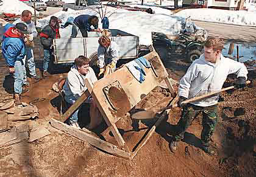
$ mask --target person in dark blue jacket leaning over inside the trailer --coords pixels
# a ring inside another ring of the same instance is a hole
[[[101,29],[98,28],[99,19],[94,15],[79,15],[73,23],[71,38],[76,38],[79,30],[84,38],[87,38],[87,32],[101,32]],[[91,29],[91,26],[94,29]]]

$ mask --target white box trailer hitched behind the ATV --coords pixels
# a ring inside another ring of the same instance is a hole
[[[119,48],[119,59],[132,59],[139,56],[139,37],[118,29],[110,29],[111,40]],[[90,63],[98,59],[98,40],[100,33],[88,32],[87,38],[59,38],[54,39],[54,63],[73,63],[79,55],[89,58]],[[145,53],[144,53],[145,54]]]

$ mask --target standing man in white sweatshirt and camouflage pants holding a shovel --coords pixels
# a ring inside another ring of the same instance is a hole
[[[191,64],[180,80],[178,106],[182,108],[182,116],[177,124],[177,133],[169,144],[172,152],[177,149],[177,143],[183,139],[194,117],[202,113],[202,150],[209,154],[215,153],[210,148],[210,137],[219,120],[217,111],[219,95],[187,105],[181,103],[193,97],[220,91],[229,74],[237,76],[235,88],[243,88],[246,85],[248,73],[246,67],[243,63],[223,57],[221,54],[223,47],[224,41],[220,38],[208,39],[205,42],[204,54]]]

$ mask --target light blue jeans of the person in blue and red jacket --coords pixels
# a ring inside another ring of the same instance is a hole
[[[15,61],[14,69],[14,92],[15,94],[21,94],[22,85],[24,82],[24,64],[21,61]]]

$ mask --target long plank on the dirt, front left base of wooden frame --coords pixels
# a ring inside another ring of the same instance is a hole
[[[107,151],[108,153],[111,153],[115,156],[130,159],[130,153],[120,150],[116,145],[102,141],[98,137],[94,137],[91,134],[85,133],[84,131],[77,130],[76,128],[70,127],[58,120],[51,119],[50,122],[52,127],[57,128],[58,130],[61,130],[67,134],[70,134],[71,136],[77,137],[81,141],[86,141],[94,147],[100,148],[101,150]]]

